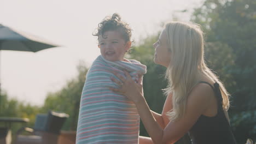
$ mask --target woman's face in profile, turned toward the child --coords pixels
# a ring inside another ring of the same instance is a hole
[[[168,49],[165,30],[161,32],[158,41],[156,41],[153,46],[155,47],[154,62],[163,65],[164,67],[168,67],[171,60],[171,52]]]

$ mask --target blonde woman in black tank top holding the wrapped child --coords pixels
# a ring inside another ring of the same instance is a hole
[[[118,74],[111,78],[121,88],[110,88],[131,99],[150,138],[140,142],[174,143],[189,132],[193,144],[236,143],[228,117],[229,94],[203,59],[199,26],[183,22],[165,25],[154,44],[156,64],[167,68],[169,85],[162,115],[150,111],[142,85]],[[142,81],[142,79],[140,79]],[[135,90],[134,90],[135,89]]]

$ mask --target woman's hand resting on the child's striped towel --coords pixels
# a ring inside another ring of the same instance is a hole
[[[113,92],[125,95],[128,99],[132,100],[135,104],[143,98],[142,75],[139,75],[138,83],[136,83],[127,71],[124,71],[126,79],[118,73],[114,73],[121,81],[110,77],[110,79],[117,83],[120,88],[109,88]]]

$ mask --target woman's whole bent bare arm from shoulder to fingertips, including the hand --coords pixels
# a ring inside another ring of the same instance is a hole
[[[131,76],[126,72],[127,79],[119,77],[123,82],[120,89],[110,88],[112,91],[119,92],[131,99],[137,107],[144,127],[154,143],[174,143],[179,140],[194,125],[197,119],[206,110],[210,103],[210,97],[214,97],[212,89],[207,85],[197,85],[189,94],[185,114],[178,121],[171,121],[163,129],[154,118],[149,106],[142,94],[142,85],[132,81]],[[116,80],[113,80],[118,83]]]

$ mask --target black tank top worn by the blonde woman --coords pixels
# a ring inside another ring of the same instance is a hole
[[[225,117],[222,107],[222,93],[220,93],[219,84],[214,83],[214,87],[205,81],[199,83],[206,83],[211,86],[214,95],[218,101],[218,112],[214,117],[207,117],[201,115],[193,127],[189,130],[189,136],[192,144],[221,144],[221,143],[236,143],[235,137],[232,134],[228,120]]]

